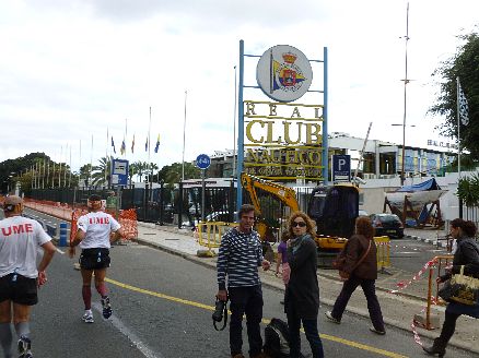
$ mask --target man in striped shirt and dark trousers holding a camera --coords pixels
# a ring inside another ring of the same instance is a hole
[[[242,321],[246,314],[249,357],[262,357],[262,338],[259,324],[262,319],[262,291],[258,266],[269,270],[269,261],[262,258],[261,241],[253,230],[255,207],[245,204],[238,212],[240,226],[227,231],[221,239],[218,254],[217,297],[230,298],[230,349],[233,358],[244,358],[242,353]],[[227,276],[227,291],[226,291]]]

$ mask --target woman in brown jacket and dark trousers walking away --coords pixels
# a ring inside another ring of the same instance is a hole
[[[371,247],[370,247],[371,242]],[[362,256],[367,254],[360,262]],[[379,301],[376,296],[376,278],[377,278],[377,262],[376,262],[376,243],[374,242],[374,227],[367,216],[360,216],[355,219],[355,235],[353,235],[344,247],[346,264],[343,271],[350,277],[344,281],[341,293],[336,299],[332,311],[327,311],[325,314],[329,321],[341,323],[342,313],[344,312],[348,301],[352,293],[361,285],[364,296],[367,301],[367,310],[373,326],[371,332],[379,335],[386,334],[384,327],[383,313],[381,311]]]

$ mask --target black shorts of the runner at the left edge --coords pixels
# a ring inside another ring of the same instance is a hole
[[[24,306],[36,305],[38,302],[37,279],[19,274],[0,277],[0,302],[5,300]]]

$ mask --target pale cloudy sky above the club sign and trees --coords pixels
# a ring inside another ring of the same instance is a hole
[[[402,142],[406,0],[4,0],[0,2],[0,162],[32,152],[93,164],[117,153],[160,167],[233,147],[238,41],[329,53],[329,131]],[[431,73],[479,23],[479,2],[410,0],[407,145],[427,146]],[[246,84],[256,85],[246,59]],[[314,73],[323,69],[313,64]],[[316,75],[318,79],[319,75]],[[314,81],[312,88],[320,90]],[[245,99],[266,100],[258,90]],[[318,94],[299,102],[322,104]],[[151,127],[150,127],[150,111]],[[157,154],[144,151],[161,135]],[[131,142],[135,134],[135,153]],[[93,151],[92,151],[93,136]],[[446,140],[447,141],[447,140]]]

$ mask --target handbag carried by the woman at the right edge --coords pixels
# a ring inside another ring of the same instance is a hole
[[[437,295],[446,302],[459,302],[467,306],[479,303],[479,278],[466,276],[464,265],[460,273],[444,283]]]

